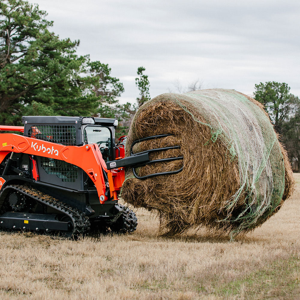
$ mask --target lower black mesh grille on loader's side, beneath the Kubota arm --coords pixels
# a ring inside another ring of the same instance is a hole
[[[41,167],[47,174],[54,174],[63,182],[75,182],[78,178],[78,167],[65,161],[41,157]]]

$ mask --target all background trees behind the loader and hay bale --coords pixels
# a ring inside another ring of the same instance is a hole
[[[20,125],[22,115],[101,116],[118,118],[116,136],[126,134],[137,109],[150,99],[145,68],[137,68],[136,103],[119,104],[124,87],[109,65],[78,56],[79,41],[51,32],[46,15],[25,0],[0,2],[0,124]],[[195,81],[188,91],[200,88]],[[298,171],[300,102],[289,91],[286,83],[260,82],[254,98],[265,105]]]

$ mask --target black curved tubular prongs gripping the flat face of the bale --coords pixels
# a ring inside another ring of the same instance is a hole
[[[143,151],[143,152],[133,153],[133,147],[137,143],[140,143],[140,142],[143,142],[143,141],[147,141],[147,140],[153,140],[153,139],[161,138],[161,137],[169,137],[171,135],[173,135],[173,134],[159,134],[159,135],[153,135],[151,137],[144,137],[142,139],[134,141],[131,144],[131,147],[130,147],[130,155],[131,155],[131,157],[143,155],[144,153],[148,153],[148,155],[149,155],[149,153],[152,153],[152,152],[164,151],[164,150],[169,150],[169,149],[180,149],[181,148],[180,146],[170,146],[170,147],[163,147],[163,148],[157,148],[157,149],[146,150],[146,151]],[[145,176],[138,176],[137,173],[136,173],[136,171],[135,171],[135,168],[143,167],[143,166],[146,166],[147,164],[154,164],[154,163],[160,163],[160,162],[166,162],[166,161],[177,161],[177,160],[180,160],[180,159],[183,159],[183,156],[171,157],[171,158],[163,158],[163,159],[156,159],[154,161],[147,161],[147,162],[144,162],[142,164],[138,164],[138,165],[133,166],[132,167],[132,172],[133,172],[133,175],[137,179],[148,179],[148,178],[155,177],[155,176],[160,176],[160,175],[177,174],[177,173],[179,173],[179,172],[181,172],[183,170],[184,164],[182,164],[182,167],[180,169],[175,170],[175,171],[153,173],[153,174],[149,174],[149,175],[145,175]]]

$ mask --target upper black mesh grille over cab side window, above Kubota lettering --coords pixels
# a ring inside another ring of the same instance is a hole
[[[66,146],[77,145],[76,128],[72,125],[32,125],[28,136]]]

